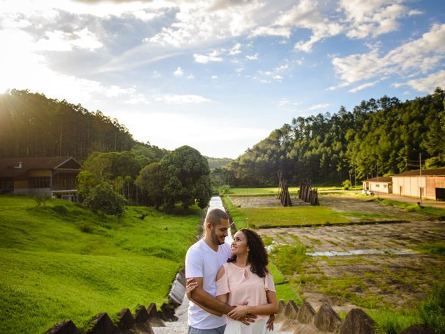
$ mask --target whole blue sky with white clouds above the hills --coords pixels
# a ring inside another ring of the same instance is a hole
[[[293,118],[445,88],[443,0],[0,0],[0,93],[236,158]]]

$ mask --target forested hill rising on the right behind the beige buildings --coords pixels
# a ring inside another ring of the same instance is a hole
[[[362,180],[445,166],[444,90],[401,102],[363,101],[352,111],[293,118],[225,169],[234,185],[277,184],[277,171],[298,184]],[[426,165],[426,166],[425,166]]]

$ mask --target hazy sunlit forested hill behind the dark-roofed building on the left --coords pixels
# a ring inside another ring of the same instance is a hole
[[[80,104],[28,90],[0,95],[0,157],[72,156],[130,150],[136,141],[118,120]]]

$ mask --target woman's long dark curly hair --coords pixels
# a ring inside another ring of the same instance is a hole
[[[268,257],[263,239],[261,239],[257,232],[248,228],[241,228],[238,232],[243,232],[248,239],[248,264],[250,264],[252,273],[256,273],[259,277],[266,277],[266,273],[268,273],[266,267],[268,264]],[[236,255],[232,255],[227,262],[234,262],[235,260]]]

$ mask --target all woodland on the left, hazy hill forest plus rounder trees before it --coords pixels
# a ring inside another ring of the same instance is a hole
[[[171,211],[211,198],[209,163],[194,148],[172,152],[139,143],[118,120],[80,104],[29,90],[0,95],[0,157],[79,159],[79,198],[90,209],[120,215],[124,205]]]

